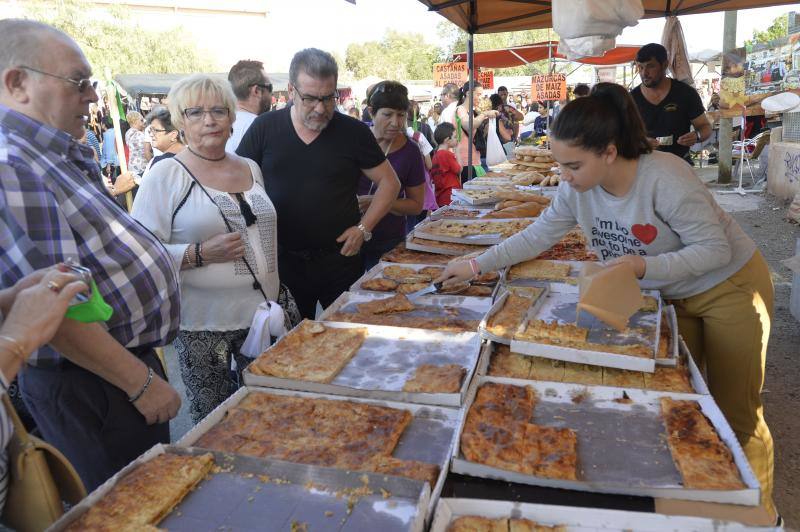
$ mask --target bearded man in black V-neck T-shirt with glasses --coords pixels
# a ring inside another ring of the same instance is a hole
[[[400,191],[397,175],[362,122],[336,112],[336,61],[309,48],[289,67],[293,105],[263,114],[236,153],[254,160],[278,214],[278,269],[304,317],[361,275],[361,245]],[[361,174],[376,185],[359,215]]]

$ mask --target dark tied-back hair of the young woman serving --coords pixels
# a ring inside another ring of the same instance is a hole
[[[596,153],[603,153],[609,144],[614,144],[625,159],[638,159],[653,151],[636,102],[616,83],[598,83],[589,96],[564,106],[551,134]]]

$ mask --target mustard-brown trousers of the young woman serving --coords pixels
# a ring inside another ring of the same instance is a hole
[[[774,296],[769,266],[756,250],[741,270],[717,286],[670,301],[680,334],[697,366],[705,368],[711,395],[761,484],[762,504],[773,513],[772,435],[764,421],[761,387]]]

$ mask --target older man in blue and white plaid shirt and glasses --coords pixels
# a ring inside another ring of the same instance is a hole
[[[177,272],[105,191],[92,149],[78,141],[98,100],[91,74],[61,31],[0,21],[0,289],[73,259],[113,309],[102,324],[64,320],[20,373],[39,429],[90,490],[168,442],[180,407],[154,351],[178,332]]]

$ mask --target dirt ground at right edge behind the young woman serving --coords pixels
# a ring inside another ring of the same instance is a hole
[[[713,187],[716,188],[716,187]],[[738,197],[738,196],[737,196]],[[751,196],[752,197],[752,196]],[[767,351],[764,409],[775,441],[774,499],[786,526],[800,529],[800,323],[789,312],[792,272],[781,261],[794,255],[800,227],[784,219],[786,204],[756,195],[755,209],[727,210],[755,240],[769,263],[775,285],[775,311]],[[727,196],[725,201],[731,201]]]

